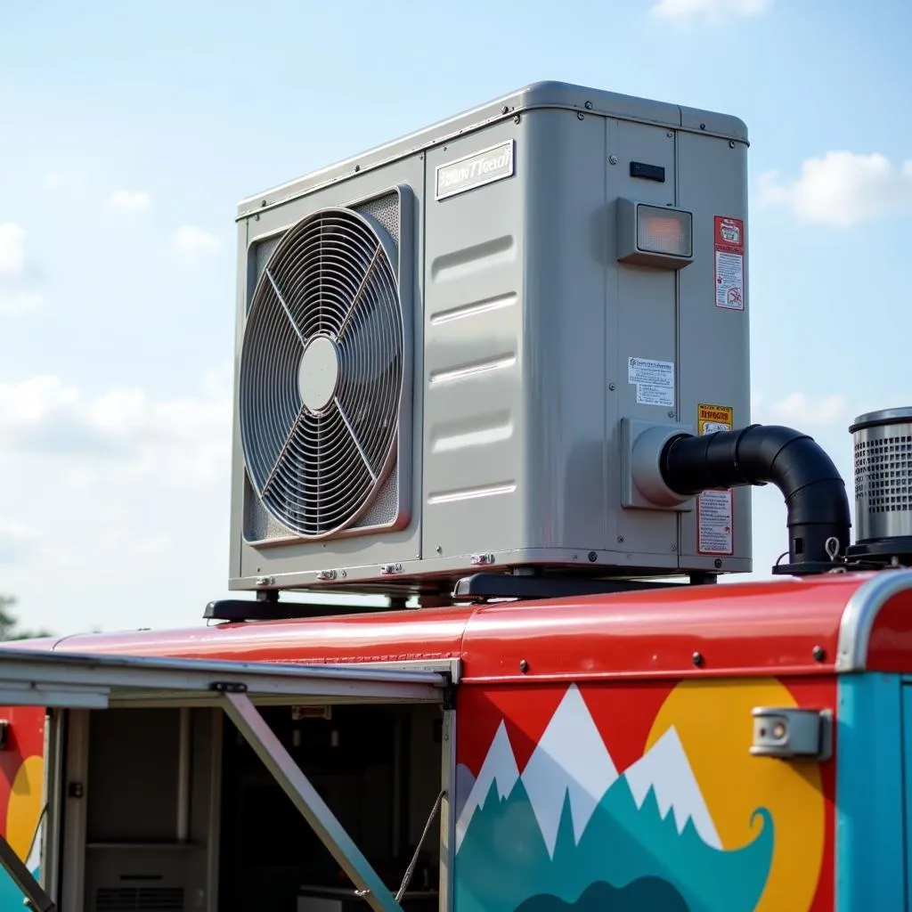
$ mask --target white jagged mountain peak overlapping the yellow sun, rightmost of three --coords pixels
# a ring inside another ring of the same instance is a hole
[[[688,820],[707,845],[722,847],[710,809],[700,793],[700,785],[690,768],[690,762],[678,731],[672,725],[643,756],[624,772],[637,808],[643,806],[649,787],[658,802],[658,812],[664,819],[673,811],[678,832]]]

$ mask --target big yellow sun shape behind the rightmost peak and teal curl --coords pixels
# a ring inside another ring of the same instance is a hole
[[[796,706],[778,681],[683,681],[668,695],[649,731],[648,750],[674,726],[687,751],[722,847],[756,836],[751,814],[772,814],[772,867],[755,912],[794,912],[814,901],[824,857],[824,793],[816,763],[752,757],[751,710]]]

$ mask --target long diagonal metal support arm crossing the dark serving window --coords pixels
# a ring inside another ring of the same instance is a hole
[[[224,693],[224,709],[265,767],[305,818],[320,842],[333,855],[368,905],[377,912],[402,912],[399,903],[352,842],[345,828],[329,810],[301,772],[285,745],[243,693]],[[26,872],[27,873],[27,872]]]

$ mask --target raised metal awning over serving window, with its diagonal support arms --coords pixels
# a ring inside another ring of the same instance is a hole
[[[105,710],[222,706],[368,905],[399,910],[387,886],[316,793],[258,703],[443,703],[451,674],[437,670],[78,655],[0,648],[0,705]],[[33,908],[54,903],[3,841],[0,864]]]

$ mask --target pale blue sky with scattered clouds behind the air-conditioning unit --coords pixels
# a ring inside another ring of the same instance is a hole
[[[60,632],[225,594],[236,203],[543,78],[744,119],[754,420],[851,489],[912,399],[905,0],[35,0],[0,20],[0,592]],[[754,493],[755,565],[785,546]]]

